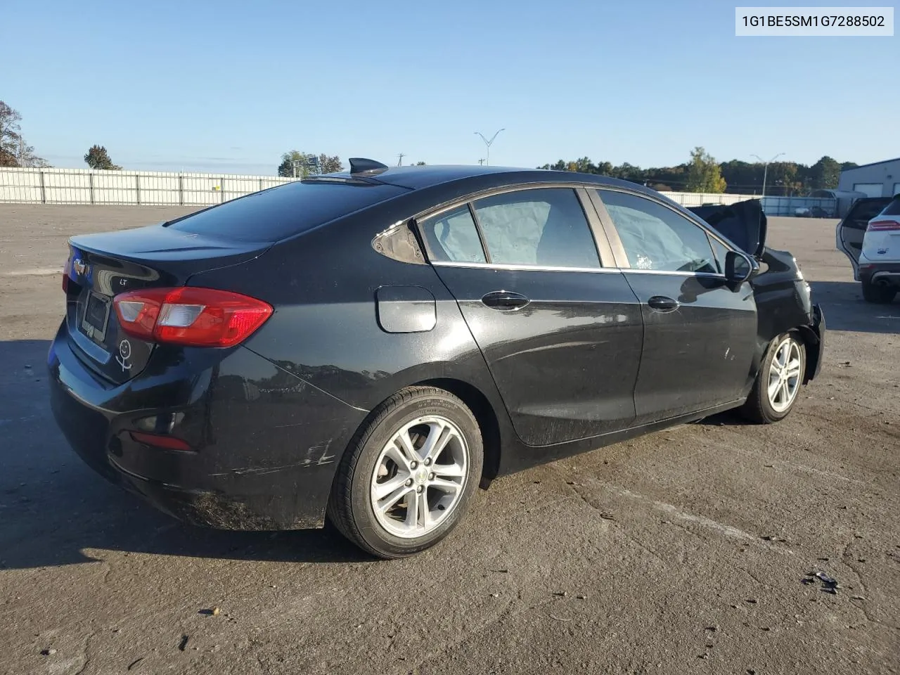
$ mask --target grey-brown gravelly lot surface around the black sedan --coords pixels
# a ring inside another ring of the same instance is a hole
[[[900,306],[862,302],[833,220],[770,221],[830,331],[787,420],[509,476],[444,544],[377,563],[329,530],[183,526],[55,427],[67,236],[183,212],[0,205],[0,672],[900,670]]]

